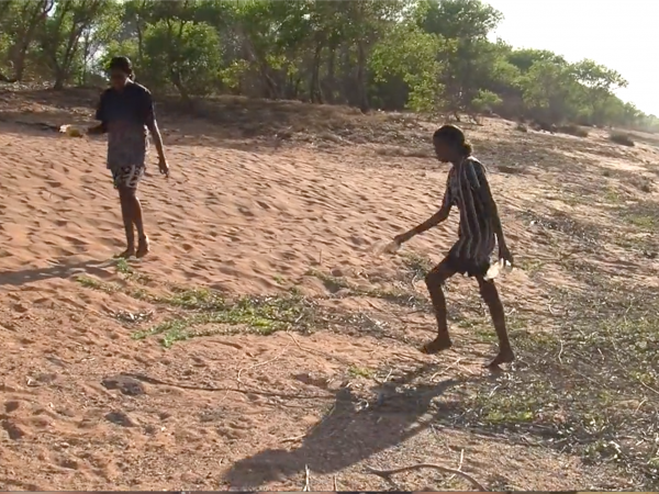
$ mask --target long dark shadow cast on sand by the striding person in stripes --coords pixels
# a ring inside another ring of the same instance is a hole
[[[414,374],[428,367],[422,367]],[[378,397],[361,411],[359,407],[366,402],[355,396],[349,388],[344,388],[337,392],[330,415],[304,437],[298,449],[268,449],[239,460],[224,480],[232,489],[248,490],[303,472],[305,465],[315,473],[337,472],[429,427],[426,414],[436,414],[432,407],[433,398],[460,382],[463,381],[447,379],[404,391],[378,386],[375,390],[379,392]],[[422,417],[424,419],[420,420]]]

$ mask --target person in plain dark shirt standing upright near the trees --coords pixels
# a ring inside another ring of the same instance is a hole
[[[131,60],[126,57],[112,58],[111,87],[102,93],[96,113],[96,119],[101,123],[88,130],[88,134],[108,134],[108,169],[112,172],[114,187],[119,190],[126,231],[126,250],[120,254],[120,257],[144,257],[149,251],[148,237],[144,233],[142,220],[142,204],[136,195],[137,186],[146,168],[148,132],[158,151],[160,173],[169,176],[152,94],[133,79]],[[134,228],[137,229],[136,248]]]

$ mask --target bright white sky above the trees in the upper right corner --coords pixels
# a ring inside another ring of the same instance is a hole
[[[652,0],[485,0],[505,19],[492,37],[550,49],[568,61],[591,58],[629,82],[616,91],[659,115],[659,2]]]

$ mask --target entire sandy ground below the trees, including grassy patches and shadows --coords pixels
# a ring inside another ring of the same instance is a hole
[[[657,489],[659,159],[469,128],[517,269],[501,292],[518,360],[472,283],[448,284],[455,349],[423,276],[455,217],[395,257],[373,247],[437,207],[433,124],[222,100],[161,105],[174,167],[148,177],[154,252],[121,226],[94,91],[0,93],[0,489]],[[178,115],[176,120],[174,115]],[[43,125],[45,124],[45,125]]]

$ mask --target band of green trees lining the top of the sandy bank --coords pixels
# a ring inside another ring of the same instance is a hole
[[[481,0],[3,0],[4,80],[98,83],[126,55],[154,91],[362,110],[476,114],[659,131],[594,60],[490,41]]]

